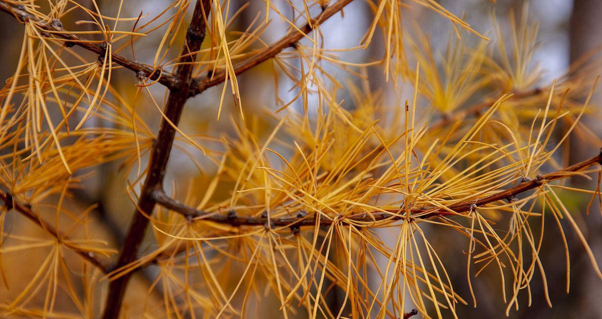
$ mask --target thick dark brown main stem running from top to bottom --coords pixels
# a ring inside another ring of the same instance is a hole
[[[178,59],[178,67],[174,73],[177,85],[170,88],[165,115],[173,124],[177,125],[184,108],[184,103],[190,96],[191,74],[193,71],[196,53],[205,39],[206,17],[209,13],[211,2],[209,0],[197,0],[194,6],[194,13],[188,31],[186,33],[184,47],[181,57]],[[163,119],[155,145],[151,151],[148,173],[144,185],[140,192],[138,209],[145,213],[151,213],[155,207],[155,199],[151,196],[156,189],[163,186],[163,178],[169,160],[169,154],[172,150],[175,129],[169,124],[169,121]],[[132,222],[129,225],[128,235],[123,242],[121,254],[117,261],[116,268],[131,263],[136,258],[138,246],[144,238],[144,233],[149,224],[144,214],[140,211],[134,211]],[[107,303],[103,314],[104,319],[117,318],[123,302],[123,295],[132,273],[128,273],[109,284]]]

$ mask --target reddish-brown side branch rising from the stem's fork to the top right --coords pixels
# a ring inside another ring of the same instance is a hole
[[[273,58],[287,47],[293,46],[306,34],[309,34],[309,32],[313,31],[314,28],[324,23],[330,17],[334,16],[335,13],[343,10],[343,8],[352,1],[353,0],[339,0],[335,2],[335,4],[324,8],[320,14],[311,19],[311,24],[307,22],[305,25],[300,27],[300,31],[297,29],[289,31],[287,35],[280,38],[280,40],[276,41],[275,43],[270,44],[270,46],[261,50],[261,52],[258,52],[250,58],[234,65],[234,73],[236,75],[243,73],[244,71],[249,70],[256,65]],[[213,76],[194,77],[194,87],[191,89],[190,94],[191,96],[196,96],[208,88],[222,84],[224,81],[226,81],[226,71],[220,71],[219,73],[213,74]]]

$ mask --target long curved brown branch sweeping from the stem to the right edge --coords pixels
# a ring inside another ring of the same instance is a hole
[[[576,163],[575,165],[571,165],[566,168],[560,169],[559,171],[551,172],[545,175],[538,175],[538,177],[535,178],[535,180],[525,180],[517,186],[511,187],[507,190],[503,190],[502,192],[485,196],[481,199],[471,199],[470,201],[459,202],[458,204],[450,205],[449,207],[447,207],[448,209],[414,208],[411,210],[410,213],[411,216],[414,216],[417,219],[429,219],[437,216],[458,215],[460,213],[470,211],[473,208],[504,199],[512,201],[513,198],[519,195],[520,193],[540,187],[549,181],[569,177],[575,172],[582,171],[583,169],[589,168],[596,164],[602,165],[602,149],[600,150],[600,154],[592,157],[591,159],[584,160],[583,162]],[[296,217],[271,217],[270,219],[268,219],[267,216],[238,216],[234,210],[228,211],[228,214],[221,214],[198,210],[194,207],[189,207],[187,205],[182,204],[179,201],[176,201],[173,198],[170,198],[166,195],[166,193],[163,190],[160,189],[154,190],[152,196],[158,204],[162,205],[163,207],[169,210],[175,211],[176,213],[182,214],[189,220],[210,220],[212,222],[227,223],[233,226],[268,226],[268,222],[270,223],[269,226],[299,227],[316,225],[315,216],[309,216],[303,213],[298,213]],[[389,210],[386,213],[378,211],[372,213],[355,214],[352,216],[343,216],[340,218],[343,218],[343,220],[349,220],[349,222],[364,223],[384,219],[396,220],[405,218],[405,216],[399,216],[396,213],[397,210]],[[334,220],[331,219],[320,219],[319,223],[321,226],[327,226],[332,224],[333,222]]]

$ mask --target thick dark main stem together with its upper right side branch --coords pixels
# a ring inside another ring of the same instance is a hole
[[[326,8],[314,21],[314,25],[324,22],[330,16],[343,9],[343,7],[349,4],[351,1],[352,0],[340,0],[331,7]],[[205,15],[209,13],[210,4],[211,2],[209,0],[202,0],[202,2],[197,0],[194,8],[193,18],[186,34],[185,44],[180,55],[181,57],[178,59],[178,67],[174,73],[174,83],[177,85],[175,85],[175,87],[170,87],[170,93],[167,98],[167,104],[164,111],[166,117],[174,125],[178,125],[179,118],[182,114],[182,109],[184,108],[184,103],[188,98],[201,93],[208,87],[223,82],[225,79],[224,75],[221,82],[212,82],[208,85],[204,85],[203,81],[197,81],[196,79],[192,78],[194,61],[200,49],[200,44],[202,44],[205,38]],[[302,31],[308,33],[311,31],[311,28],[309,28],[309,26],[304,26]],[[237,74],[249,70],[255,65],[272,58],[284,50],[285,47],[290,46],[302,37],[303,34],[300,32],[295,32],[294,34],[290,32],[290,37],[285,37],[273,46],[270,46],[270,49],[258,53],[258,55],[255,55],[255,58],[253,58],[251,61],[248,61],[243,65],[237,65]],[[214,78],[214,80],[215,79],[217,79],[217,77]],[[144,238],[144,233],[146,232],[146,228],[149,223],[149,220],[146,218],[146,216],[140,212],[151,213],[155,207],[155,204],[157,203],[153,194],[157,190],[163,189],[163,178],[165,175],[167,160],[169,159],[169,154],[175,136],[175,129],[171,124],[169,124],[169,121],[165,119],[161,121],[161,127],[154,147],[151,151],[151,158],[146,180],[144,181],[144,185],[140,192],[137,211],[134,212],[134,216],[132,217],[128,235],[123,243],[122,252],[119,260],[117,261],[115,269],[125,266],[126,264],[129,264],[135,260],[138,246],[140,246],[140,243]],[[110,283],[107,303],[105,305],[105,311],[103,314],[104,319],[117,318],[119,315],[123,295],[125,293],[125,288],[130,276],[131,272],[126,273]]]

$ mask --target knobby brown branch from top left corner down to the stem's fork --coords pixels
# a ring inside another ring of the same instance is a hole
[[[25,6],[9,5],[4,0],[0,1],[0,11],[10,14],[20,22],[36,23],[36,25],[40,28],[46,31],[52,31],[52,35],[56,35],[66,40],[64,41],[66,46],[75,45],[99,55],[105,55],[105,50],[107,49],[106,43],[96,44],[91,40],[69,33],[69,31],[63,28],[63,22],[61,22],[59,19],[52,19],[51,21],[39,19],[39,17],[28,13]],[[160,68],[155,69],[149,67],[138,61],[132,61],[131,59],[114,52],[111,52],[111,61],[137,73],[141,72],[145,77],[153,81],[158,79],[158,82],[165,85],[167,88],[172,89],[178,87],[178,81],[176,81],[175,77],[169,72],[163,71]]]

